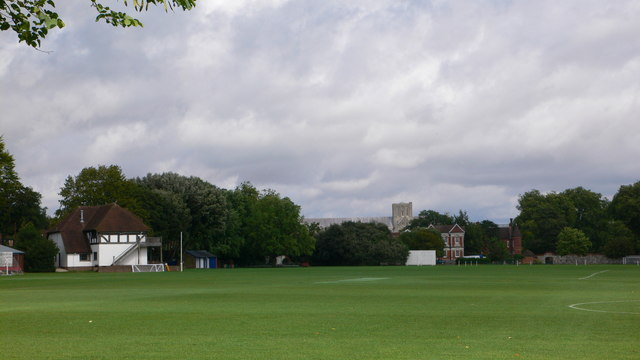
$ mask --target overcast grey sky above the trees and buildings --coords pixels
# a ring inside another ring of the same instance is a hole
[[[0,33],[0,134],[49,213],[100,164],[250,181],[306,217],[498,223],[531,189],[640,180],[635,0],[201,0],[142,29],[57,9],[49,54]]]

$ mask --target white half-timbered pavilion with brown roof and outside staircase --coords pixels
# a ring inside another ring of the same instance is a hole
[[[147,265],[149,227],[118,204],[80,206],[47,232],[60,252],[56,266],[88,270],[114,265]],[[154,239],[154,241],[152,241]]]

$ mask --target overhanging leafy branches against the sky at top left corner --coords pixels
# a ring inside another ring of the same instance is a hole
[[[102,4],[102,1],[89,0],[88,4],[96,12],[96,21],[104,20],[113,26],[129,27],[142,26],[140,20],[122,11],[115,11]],[[123,1],[128,5],[128,1]],[[143,11],[149,5],[162,5],[166,10],[179,8],[190,10],[196,5],[196,0],[134,0],[133,9]],[[37,48],[48,35],[49,30],[62,29],[65,24],[55,11],[54,0],[0,0],[0,30],[12,30],[18,35],[18,41]]]

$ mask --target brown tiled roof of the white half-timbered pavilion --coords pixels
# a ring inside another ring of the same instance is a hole
[[[118,204],[80,206],[47,233],[60,233],[67,253],[90,253],[85,236],[87,231],[146,232],[149,227],[142,220]]]

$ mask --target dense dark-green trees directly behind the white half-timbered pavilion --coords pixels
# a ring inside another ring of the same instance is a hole
[[[165,258],[186,249],[207,250],[241,264],[310,255],[315,239],[300,206],[274,190],[245,182],[233,190],[172,172],[128,179],[117,165],[88,167],[67,177],[60,190],[63,218],[78,206],[118,203],[163,239]]]

